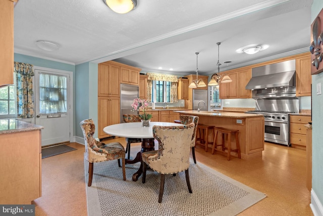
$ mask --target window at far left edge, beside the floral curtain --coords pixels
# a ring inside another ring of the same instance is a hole
[[[16,117],[15,86],[6,85],[0,88],[0,118]]]

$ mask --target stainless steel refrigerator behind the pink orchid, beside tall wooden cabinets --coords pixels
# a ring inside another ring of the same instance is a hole
[[[138,114],[138,111],[132,111],[131,104],[134,99],[139,97],[139,87],[137,85],[121,84],[120,94],[120,122],[124,123],[123,114]]]

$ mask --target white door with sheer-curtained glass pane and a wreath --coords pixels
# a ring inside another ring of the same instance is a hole
[[[35,69],[35,124],[41,146],[70,142],[70,77],[66,71]]]

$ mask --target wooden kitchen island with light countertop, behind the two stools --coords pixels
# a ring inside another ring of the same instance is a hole
[[[199,124],[213,125],[239,130],[239,144],[241,158],[248,159],[262,155],[264,149],[264,117],[261,114],[235,113],[235,112],[208,112],[196,110],[179,110],[181,115],[196,115],[199,117]],[[210,133],[210,135],[212,135]],[[222,136],[218,136],[217,144],[222,142]],[[213,140],[213,137],[209,137]],[[234,139],[231,143],[232,148],[236,147]],[[208,146],[211,148],[211,146]],[[231,152],[237,156],[237,153]]]

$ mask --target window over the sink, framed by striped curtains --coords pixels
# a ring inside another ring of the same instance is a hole
[[[157,103],[170,102],[171,82],[154,80],[152,85],[151,101]]]

